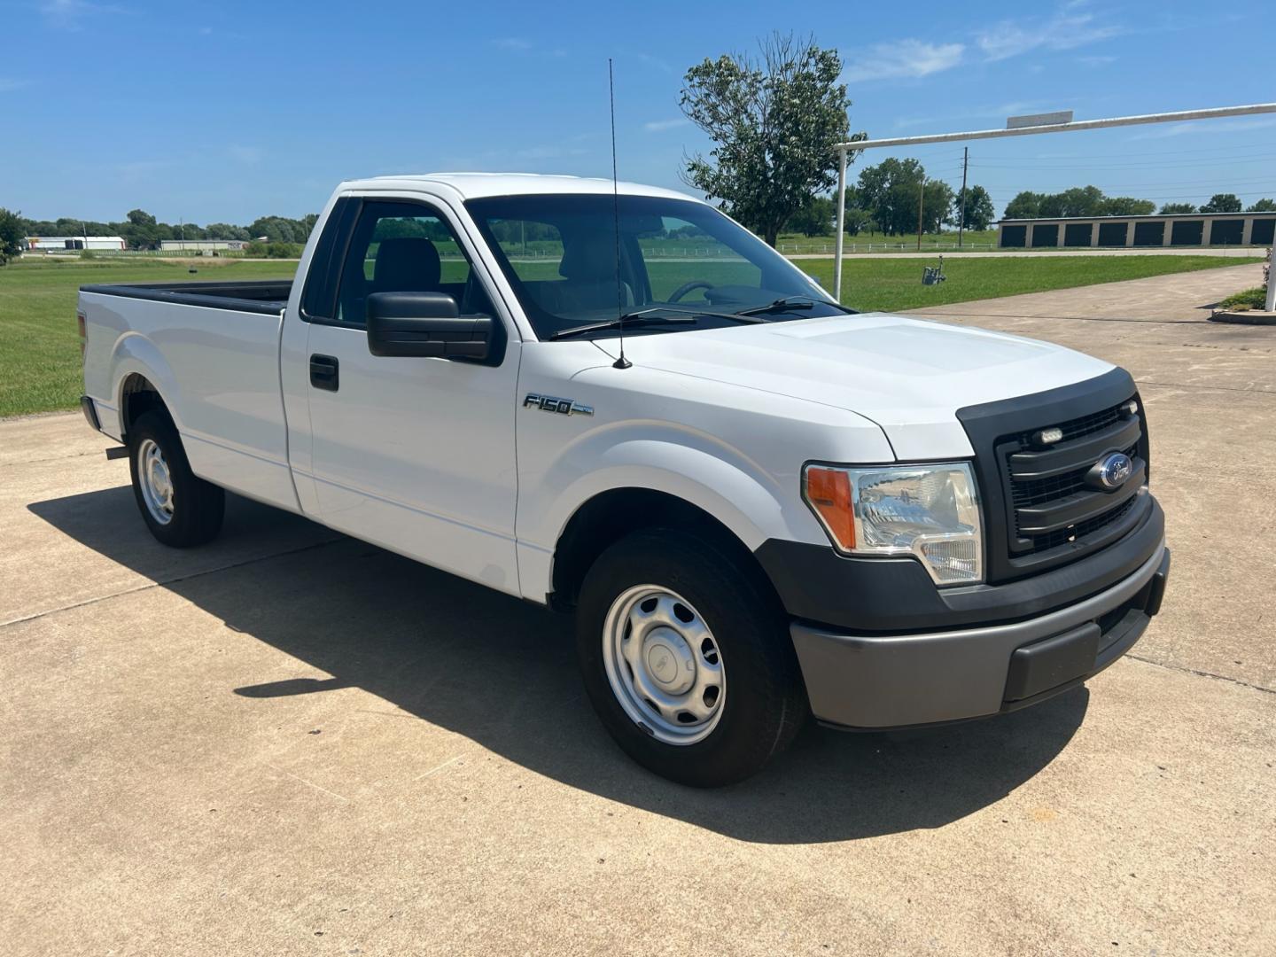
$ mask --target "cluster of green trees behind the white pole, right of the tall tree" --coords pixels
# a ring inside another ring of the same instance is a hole
[[[829,236],[836,228],[835,197],[812,197],[787,228],[806,236]],[[923,232],[939,232],[958,222],[967,230],[986,230],[995,217],[993,199],[979,185],[961,190],[943,180],[926,176],[916,160],[884,160],[860,170],[859,180],[846,188],[846,232],[882,232],[887,236],[915,234],[920,219]]]

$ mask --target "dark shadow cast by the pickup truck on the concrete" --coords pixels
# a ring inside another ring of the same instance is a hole
[[[225,689],[259,702],[262,721],[274,720],[281,698],[357,686],[536,773],[743,841],[845,841],[957,820],[1046,767],[1088,702],[1082,688],[930,731],[812,726],[762,775],[698,791],[647,773],[611,743],[582,692],[565,616],[351,538],[230,568],[175,568],[128,489],[28,508],[143,574],[163,568],[162,587],[305,662],[287,680]],[[309,524],[234,496],[227,510],[228,533],[277,537],[281,551]]]

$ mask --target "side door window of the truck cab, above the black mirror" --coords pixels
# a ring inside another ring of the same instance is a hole
[[[374,292],[445,292],[462,315],[493,315],[448,221],[421,203],[364,202],[341,269],[337,322],[362,327]]]

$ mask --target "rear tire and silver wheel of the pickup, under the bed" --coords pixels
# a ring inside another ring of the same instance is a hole
[[[154,456],[158,464],[152,463]],[[129,429],[129,473],[142,521],[165,545],[203,545],[222,530],[226,493],[190,471],[181,438],[166,412],[143,412]]]

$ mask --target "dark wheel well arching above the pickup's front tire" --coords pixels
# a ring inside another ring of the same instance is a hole
[[[698,505],[652,489],[612,489],[595,495],[575,510],[554,547],[554,591],[550,607],[575,606],[581,583],[607,547],[643,528],[692,532],[757,572],[758,587],[775,595],[771,579],[735,532]],[[778,596],[777,596],[778,597]]]

